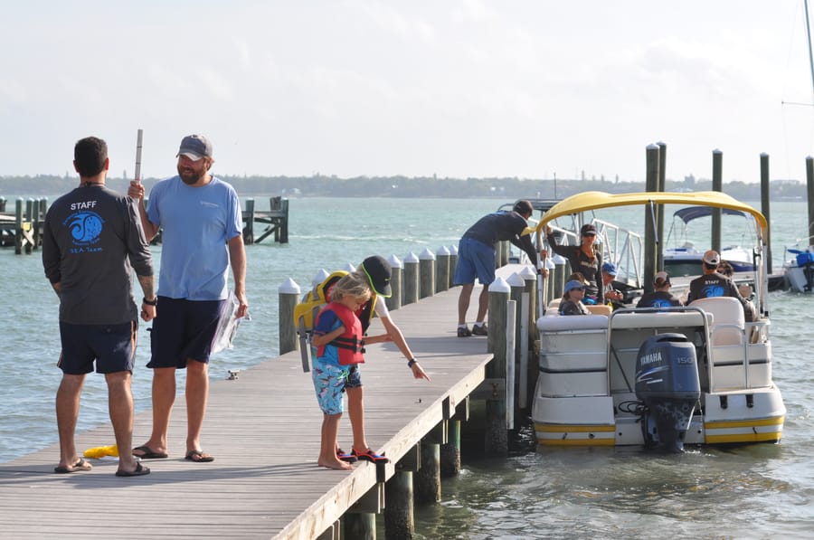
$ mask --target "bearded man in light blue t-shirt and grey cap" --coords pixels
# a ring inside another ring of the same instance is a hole
[[[142,459],[167,457],[167,429],[175,402],[175,370],[186,368],[185,458],[213,461],[201,449],[209,394],[208,363],[221,317],[228,316],[227,271],[232,266],[237,317],[246,315],[246,251],[241,203],[232,185],[210,174],[212,143],[190,135],[181,141],[178,175],[156,184],[144,206],[144,185],[130,183],[147,239],[162,230],[158,307],[150,336],[153,369],[153,431],[133,449]]]

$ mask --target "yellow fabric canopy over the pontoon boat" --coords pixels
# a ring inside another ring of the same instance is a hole
[[[647,205],[651,203],[714,206],[717,208],[740,210],[754,217],[755,223],[760,225],[762,238],[766,238],[768,223],[766,223],[766,218],[763,217],[762,213],[752,208],[749,204],[743,204],[732,196],[717,191],[699,191],[695,193],[642,192],[632,194],[607,194],[601,191],[588,191],[572,195],[554,204],[554,206],[540,218],[540,222],[537,223],[535,231],[542,232],[546,223],[552,222],[558,217],[572,215],[574,213],[589,212],[591,210],[611,208],[614,206]]]

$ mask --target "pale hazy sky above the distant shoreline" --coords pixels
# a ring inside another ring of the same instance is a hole
[[[803,0],[26,0],[4,4],[0,176],[805,180],[814,92]],[[814,6],[812,6],[814,8]],[[811,13],[814,18],[814,12]]]

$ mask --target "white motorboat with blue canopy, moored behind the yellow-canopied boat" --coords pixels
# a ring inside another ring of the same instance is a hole
[[[671,276],[692,276],[699,273],[703,250],[696,249],[693,242],[687,239],[687,225],[697,219],[709,217],[715,208],[710,206],[687,206],[673,213],[673,224],[667,233],[667,247],[664,250],[664,270]],[[744,223],[748,223],[747,214],[733,208],[721,209],[724,215],[741,216]],[[751,232],[751,231],[750,231]],[[676,240],[671,242],[673,235]],[[721,259],[732,264],[734,271],[745,272],[754,270],[754,257],[751,248],[740,245],[730,245],[722,248]]]

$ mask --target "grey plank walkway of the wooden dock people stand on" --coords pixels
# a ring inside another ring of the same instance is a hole
[[[339,538],[339,518],[381,509],[383,482],[397,464],[410,463],[421,439],[456,410],[454,418],[460,418],[467,396],[484,380],[492,357],[486,338],[459,339],[454,333],[458,294],[459,289],[446,290],[393,313],[431,383],[414,380],[394,346],[368,347],[362,369],[366,433],[374,450],[386,451],[389,464],[360,462],[352,472],[317,467],[322,413],[295,351],[234,380],[225,380],[224,373],[224,380],[211,385],[203,442],[215,456],[212,463],[184,459],[181,395],[170,424],[170,458],[145,461],[152,469],[148,476],[115,477],[116,459],[91,460],[90,472],[54,474],[57,445],[0,464],[2,535]],[[374,319],[373,333],[380,324]],[[137,376],[149,374],[139,368]],[[151,412],[138,414],[135,444],[147,440],[150,427]],[[339,439],[345,450],[350,440],[345,415]],[[112,441],[106,424],[80,433],[77,448]]]

